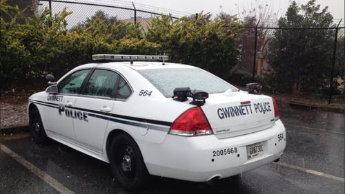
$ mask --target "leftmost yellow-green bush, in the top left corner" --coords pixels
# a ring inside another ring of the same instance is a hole
[[[40,16],[35,13],[34,17],[24,17],[25,10],[6,3],[1,5],[1,10],[13,13],[10,22],[0,18],[1,86],[17,81],[25,83],[28,78],[57,69],[56,64],[65,62],[66,57],[61,56],[70,43],[65,20],[70,12],[65,9],[50,17],[51,12],[46,9]]]

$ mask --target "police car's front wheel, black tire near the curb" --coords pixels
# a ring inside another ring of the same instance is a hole
[[[31,109],[29,112],[29,127],[32,134],[32,138],[37,144],[46,144],[49,138],[44,131],[43,123],[39,110],[37,108]]]

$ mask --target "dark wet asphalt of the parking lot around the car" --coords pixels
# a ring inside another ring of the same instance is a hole
[[[344,114],[279,111],[287,146],[278,163],[214,184],[152,177],[141,193],[344,193]],[[128,193],[109,164],[57,142],[17,133],[0,144],[0,193]]]

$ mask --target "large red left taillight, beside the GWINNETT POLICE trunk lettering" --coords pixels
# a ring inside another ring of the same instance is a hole
[[[212,134],[212,130],[201,108],[193,107],[172,123],[169,133],[180,136],[201,136]]]

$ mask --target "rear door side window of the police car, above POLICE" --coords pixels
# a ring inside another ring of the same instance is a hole
[[[95,69],[90,76],[84,95],[109,97],[117,82],[118,74],[104,69]]]

